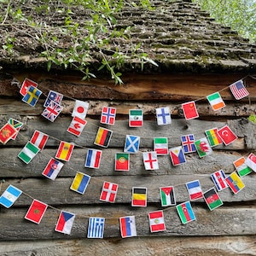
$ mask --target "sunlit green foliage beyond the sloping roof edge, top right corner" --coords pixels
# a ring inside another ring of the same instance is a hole
[[[230,26],[241,37],[256,42],[256,2],[255,0],[193,0],[207,10],[224,26]]]

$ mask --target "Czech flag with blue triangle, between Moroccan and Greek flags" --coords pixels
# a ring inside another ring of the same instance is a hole
[[[75,214],[61,211],[58,222],[55,226],[55,231],[70,235],[74,218]]]

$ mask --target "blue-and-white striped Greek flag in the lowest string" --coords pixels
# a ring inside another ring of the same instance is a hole
[[[105,218],[90,217],[87,238],[103,238]]]

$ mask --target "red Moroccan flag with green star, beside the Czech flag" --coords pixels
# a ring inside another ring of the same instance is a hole
[[[47,207],[48,205],[44,202],[34,199],[28,211],[26,212],[25,218],[36,224],[39,224]]]

